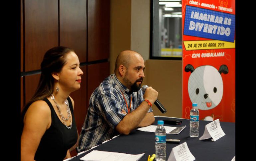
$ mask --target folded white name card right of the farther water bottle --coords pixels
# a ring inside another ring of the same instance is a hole
[[[216,141],[222,136],[226,135],[222,130],[219,119],[212,121],[205,125],[203,135],[199,138],[199,140],[208,139],[212,137],[212,141]]]

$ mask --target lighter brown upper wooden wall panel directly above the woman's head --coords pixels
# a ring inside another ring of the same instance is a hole
[[[58,0],[24,0],[25,71],[38,70],[44,53],[59,45]]]

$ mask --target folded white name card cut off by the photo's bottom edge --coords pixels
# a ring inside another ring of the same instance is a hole
[[[195,160],[195,157],[192,155],[192,153],[189,150],[189,147],[187,145],[187,142],[184,142],[178,146],[175,146],[171,154],[168,157],[167,161],[193,161]]]

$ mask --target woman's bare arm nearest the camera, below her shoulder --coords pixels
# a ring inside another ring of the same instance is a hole
[[[45,101],[30,105],[25,117],[21,135],[21,161],[34,160],[40,140],[51,126],[51,110]]]

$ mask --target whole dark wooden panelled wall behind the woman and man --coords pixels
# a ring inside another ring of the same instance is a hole
[[[108,59],[110,0],[21,0],[21,72],[39,70],[45,52],[59,45],[73,48],[80,62]],[[79,133],[92,92],[109,75],[109,62],[81,70],[81,88],[70,94]],[[40,74],[21,77],[21,110],[39,79]],[[70,153],[76,155],[75,150]]]

